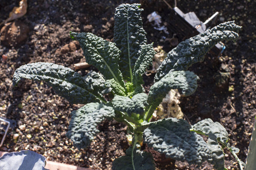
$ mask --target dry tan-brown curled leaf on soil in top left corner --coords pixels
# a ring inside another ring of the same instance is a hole
[[[19,2],[19,7],[14,7],[13,11],[10,12],[9,18],[7,18],[0,25],[10,22],[11,20],[18,19],[27,13],[27,0]]]

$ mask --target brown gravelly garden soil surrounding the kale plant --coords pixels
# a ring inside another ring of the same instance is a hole
[[[174,1],[167,2],[174,5]],[[14,71],[26,63],[53,62],[73,69],[75,63],[85,62],[79,44],[70,39],[69,31],[92,32],[113,41],[114,9],[121,3],[142,3],[144,29],[148,42],[154,42],[154,46],[161,45],[169,52],[175,47],[170,42],[173,36],[179,42],[189,38],[174,35],[168,24],[173,19],[171,9],[164,1],[28,1],[27,14],[9,25],[12,36],[1,37],[0,117],[17,122],[16,128],[9,130],[1,151],[33,150],[46,156],[47,160],[91,169],[110,169],[115,158],[125,155],[129,147],[125,125],[116,121],[102,122],[98,126],[100,133],[91,145],[78,150],[65,133],[70,113],[82,105],[69,104],[43,82],[26,79],[21,80],[17,87],[12,86]],[[19,1],[15,0],[1,1],[1,22],[18,4]],[[185,120],[192,125],[203,118],[220,122],[229,133],[230,144],[240,148],[238,157],[243,162],[256,114],[255,6],[256,2],[250,0],[177,1],[181,11],[194,11],[202,21],[216,11],[220,12],[211,26],[236,20],[236,24],[243,27],[236,42],[225,42],[226,49],[220,57],[207,54],[204,62],[189,69],[200,77],[198,88],[192,96],[181,98],[180,104]],[[169,34],[157,31],[147,21],[147,15],[153,11],[162,16],[162,24],[166,25]],[[5,35],[4,31],[1,33]],[[96,69],[91,66],[77,71],[86,75],[90,70]],[[228,76],[220,79],[223,75]],[[146,90],[152,85],[153,78],[154,75],[144,75]],[[19,137],[14,139],[14,134],[19,134]],[[147,146],[144,148],[155,156],[159,169],[212,169],[207,162],[196,167],[166,159]],[[227,152],[225,157],[228,169],[239,168],[230,153]]]

